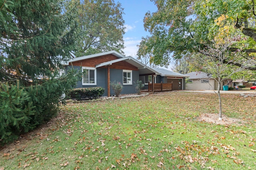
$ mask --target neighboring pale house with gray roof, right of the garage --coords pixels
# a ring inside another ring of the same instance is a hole
[[[211,74],[204,72],[190,72],[186,80],[186,90],[218,90],[218,82],[212,78]],[[220,89],[223,90],[224,82]]]

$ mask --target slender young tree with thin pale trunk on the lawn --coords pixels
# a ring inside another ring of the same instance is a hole
[[[231,78],[233,74],[241,72],[255,65],[255,58],[250,57],[246,53],[242,53],[242,49],[232,51],[230,47],[236,42],[228,37],[224,41],[212,41],[211,47],[199,49],[200,55],[191,57],[190,62],[212,74],[212,78],[218,82],[218,98],[219,98],[219,120],[222,120],[222,102],[220,96],[220,83]],[[239,63],[240,66],[237,66]]]

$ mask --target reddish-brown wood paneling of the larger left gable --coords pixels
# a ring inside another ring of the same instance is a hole
[[[72,63],[69,63],[69,65],[96,67],[97,64],[105,63],[105,62],[116,60],[116,59],[119,59],[119,58],[114,56],[114,55],[102,55],[102,56],[99,56],[99,57],[84,59],[82,61],[74,61]]]

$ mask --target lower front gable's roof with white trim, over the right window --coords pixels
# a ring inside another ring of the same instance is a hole
[[[136,66],[139,69],[140,74],[152,74],[152,73],[160,74],[159,72],[153,70],[152,68],[146,66],[145,64],[140,63],[138,60],[136,60],[136,59],[134,59],[133,57],[130,57],[130,56],[129,57],[123,57],[123,58],[116,59],[116,60],[112,60],[112,61],[108,61],[108,62],[105,62],[105,63],[97,64],[96,68],[101,67],[101,66],[111,65],[113,63],[117,63],[117,62],[120,62],[120,61],[126,61],[127,63]]]

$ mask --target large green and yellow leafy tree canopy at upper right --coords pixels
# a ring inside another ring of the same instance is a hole
[[[228,35],[240,39],[230,48],[240,49],[250,57],[256,52],[256,25],[254,0],[151,0],[158,7],[156,12],[147,12],[144,27],[151,36],[140,44],[143,53],[152,52],[156,64],[164,64],[166,56],[174,59],[183,55],[196,54],[197,47],[208,47],[219,33],[226,30]],[[241,66],[241,63],[236,63]],[[256,66],[248,68],[256,70]]]

